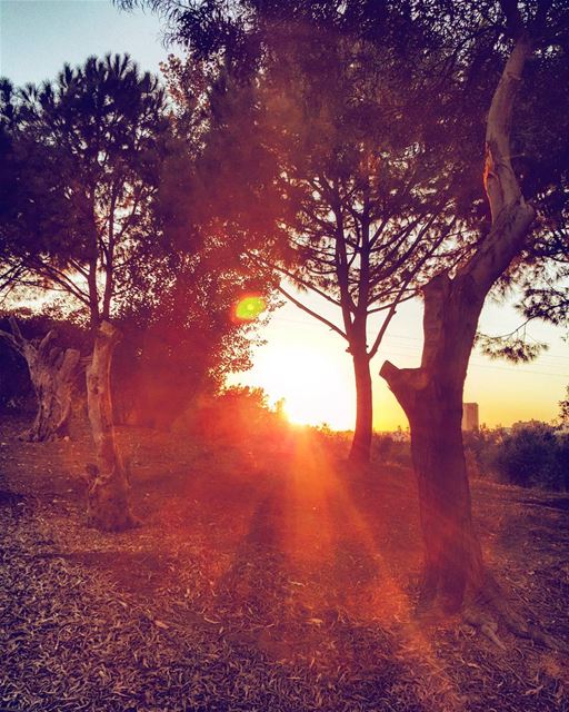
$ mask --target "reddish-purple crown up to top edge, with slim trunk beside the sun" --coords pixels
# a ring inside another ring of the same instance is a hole
[[[209,201],[221,231],[241,236],[233,245],[249,265],[277,273],[284,297],[347,340],[358,373],[356,443],[365,423],[371,431],[365,372],[397,306],[478,236],[478,159],[467,146],[479,127],[465,125],[476,126],[485,103],[472,100],[477,91],[440,81],[440,38],[419,19],[409,22],[406,8],[390,4],[379,42],[357,23],[336,27],[332,3],[325,22],[296,3],[237,3],[228,21],[250,47],[258,43],[254,60],[243,46],[241,56],[229,49],[221,20],[216,27],[196,10],[192,23],[194,10],[182,18],[172,9],[170,19],[186,39],[206,44],[191,44],[186,69],[171,61],[167,76],[186,101],[180,82],[194,81],[194,63],[217,66],[199,165],[207,195],[197,202]],[[206,33],[216,30],[208,44]],[[220,57],[212,48],[222,46]]]

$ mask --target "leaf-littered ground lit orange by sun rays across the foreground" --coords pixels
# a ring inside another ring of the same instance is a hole
[[[0,424],[0,710],[569,710],[569,659],[415,621],[412,475],[301,432],[239,444],[121,428],[142,525],[86,527],[86,431]],[[485,554],[569,643],[569,497],[473,483]]]

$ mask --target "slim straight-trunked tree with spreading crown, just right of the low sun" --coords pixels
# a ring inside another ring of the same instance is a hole
[[[350,457],[365,462],[370,362],[398,305],[417,294],[435,264],[457,258],[463,220],[456,204],[471,185],[462,171],[459,190],[460,158],[438,150],[440,129],[420,99],[425,87],[401,72],[392,46],[329,28],[307,31],[288,16],[278,29],[268,21],[263,38],[270,51],[261,73],[243,80],[224,63],[211,82],[204,157],[216,166],[206,180],[212,212],[226,217],[226,230],[240,220],[249,235],[266,226],[276,239],[260,247],[248,239],[252,264],[277,271],[279,291],[347,342],[357,393]],[[418,47],[406,51],[420,61]],[[187,67],[194,61],[190,56]],[[183,101],[180,81],[192,77],[179,61],[169,76]],[[383,319],[372,330],[376,315]]]

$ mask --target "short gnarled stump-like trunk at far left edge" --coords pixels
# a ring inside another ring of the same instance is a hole
[[[54,330],[38,343],[23,338],[13,317],[10,318],[10,328],[11,334],[0,332],[0,338],[26,360],[38,402],[33,424],[19,438],[33,443],[61,439],[69,435],[80,353],[74,348],[52,346],[57,337]]]

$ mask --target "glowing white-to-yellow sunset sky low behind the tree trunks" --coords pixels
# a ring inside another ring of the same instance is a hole
[[[332,314],[328,312],[327,316]],[[489,304],[481,327],[488,334],[503,334],[519,320],[511,307]],[[465,400],[479,404],[481,423],[508,426],[517,421],[557,417],[558,402],[569,384],[569,346],[561,340],[559,329],[543,324],[535,323],[528,332],[550,344],[533,364],[515,366],[478,352],[472,354]],[[346,343],[293,305],[273,315],[263,337],[268,343],[257,349],[253,368],[233,375],[230,383],[261,386],[271,402],[284,397],[286,411],[296,422],[328,423],[337,429],[353,427],[355,389]],[[371,364],[373,424],[378,431],[407,427],[403,412],[378,375],[379,368],[386,358],[398,366],[417,366],[420,339],[420,301],[402,305]]]

